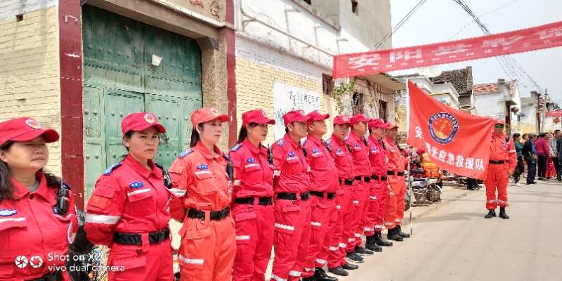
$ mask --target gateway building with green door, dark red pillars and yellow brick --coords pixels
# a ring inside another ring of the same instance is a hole
[[[232,0],[7,0],[0,30],[0,120],[29,116],[59,131],[47,169],[79,207],[126,152],[129,112],[154,112],[168,129],[164,166],[185,150],[202,105],[231,116],[223,148],[235,138]]]

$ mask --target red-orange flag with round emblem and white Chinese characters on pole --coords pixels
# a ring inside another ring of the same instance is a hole
[[[431,161],[452,174],[484,179],[495,120],[455,110],[408,81],[408,145],[425,150]]]

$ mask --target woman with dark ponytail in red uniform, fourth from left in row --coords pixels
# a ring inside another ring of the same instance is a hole
[[[233,216],[236,222],[234,281],[263,281],[273,246],[273,159],[261,145],[275,120],[263,110],[242,113],[234,166]]]

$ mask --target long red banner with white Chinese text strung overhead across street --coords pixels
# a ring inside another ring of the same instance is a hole
[[[334,78],[456,63],[562,46],[562,22],[437,44],[334,56]]]

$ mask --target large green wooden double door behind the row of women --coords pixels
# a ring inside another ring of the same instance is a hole
[[[202,107],[201,50],[194,39],[83,6],[86,198],[103,170],[126,154],[121,120],[152,112],[166,127],[156,162],[169,166],[189,143]],[[152,65],[152,56],[162,58]]]

